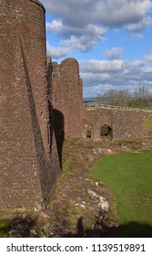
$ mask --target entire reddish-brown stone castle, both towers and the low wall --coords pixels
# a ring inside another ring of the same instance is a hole
[[[76,59],[46,65],[45,8],[1,0],[0,208],[46,208],[65,138],[152,136],[152,113],[83,106]]]

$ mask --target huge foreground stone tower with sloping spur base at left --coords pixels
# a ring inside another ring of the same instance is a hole
[[[60,172],[46,79],[45,9],[0,1],[0,208],[46,205]]]

